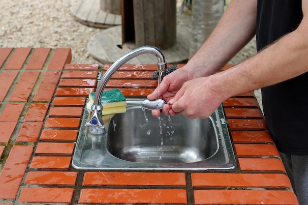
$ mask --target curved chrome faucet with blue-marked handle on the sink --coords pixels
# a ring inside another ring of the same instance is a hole
[[[93,105],[91,106],[92,114],[89,120],[85,124],[85,126],[89,127],[89,131],[91,134],[101,135],[106,132],[105,127],[104,127],[104,122],[102,119],[103,106],[100,102],[100,99],[101,99],[103,90],[106,87],[107,82],[109,81],[111,76],[127,61],[137,56],[140,56],[142,54],[146,54],[146,53],[154,54],[157,57],[158,70],[163,71],[167,68],[167,63],[165,61],[164,55],[158,48],[154,46],[142,46],[142,47],[136,48],[128,52],[127,54],[125,54],[123,57],[118,59],[116,62],[114,62],[110,66],[110,68],[106,71],[106,73],[103,75],[102,79],[100,80],[98,84],[99,87],[97,88],[97,91],[95,92],[94,102],[93,102]]]

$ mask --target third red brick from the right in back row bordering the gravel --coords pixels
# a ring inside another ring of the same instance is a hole
[[[27,59],[31,48],[16,48],[13,52],[11,59],[5,66],[6,70],[20,70]]]

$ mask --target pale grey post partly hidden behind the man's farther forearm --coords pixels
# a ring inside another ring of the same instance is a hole
[[[224,0],[193,0],[189,59],[215,29],[224,11]]]

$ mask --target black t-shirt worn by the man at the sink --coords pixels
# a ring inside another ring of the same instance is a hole
[[[296,29],[302,18],[302,0],[258,0],[257,50]],[[262,102],[278,150],[308,155],[308,73],[263,88]]]

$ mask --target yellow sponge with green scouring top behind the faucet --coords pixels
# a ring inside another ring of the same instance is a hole
[[[89,94],[89,104],[94,103],[95,92]],[[103,91],[101,97],[101,104],[103,106],[102,115],[125,113],[126,99],[120,89],[110,89]]]

